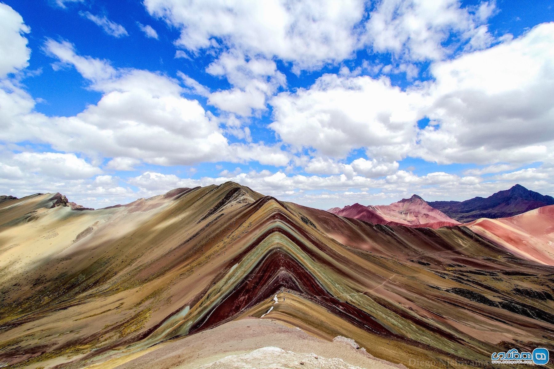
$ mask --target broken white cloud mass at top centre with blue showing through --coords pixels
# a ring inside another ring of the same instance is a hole
[[[299,72],[352,56],[365,6],[362,0],[144,4],[151,15],[181,29],[179,47],[192,53],[209,49],[218,55],[206,71],[226,77],[232,88],[213,91],[208,103],[245,117],[265,110],[267,98],[286,85],[274,58],[293,62],[293,70]],[[175,57],[189,58],[183,50]]]

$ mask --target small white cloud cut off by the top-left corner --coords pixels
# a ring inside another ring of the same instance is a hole
[[[18,12],[0,3],[0,79],[29,65],[31,50],[27,47],[30,28]]]

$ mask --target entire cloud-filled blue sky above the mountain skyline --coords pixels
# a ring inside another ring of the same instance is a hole
[[[0,192],[554,195],[554,4],[525,5],[0,2]]]

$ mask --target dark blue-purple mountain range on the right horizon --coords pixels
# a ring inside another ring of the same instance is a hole
[[[554,205],[554,198],[516,184],[509,190],[499,191],[488,198],[476,197],[465,201],[430,201],[428,204],[459,222],[467,223],[479,218],[510,217],[537,209],[537,207]]]

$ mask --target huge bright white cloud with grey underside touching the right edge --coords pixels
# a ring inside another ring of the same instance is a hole
[[[432,124],[419,155],[439,163],[533,163],[554,150],[554,23],[431,68]]]

